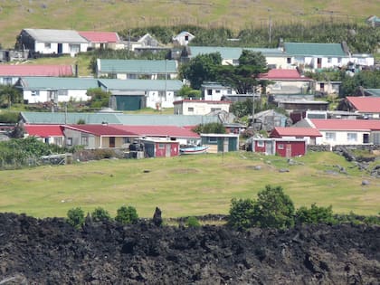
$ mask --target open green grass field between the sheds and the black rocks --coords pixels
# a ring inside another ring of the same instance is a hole
[[[140,217],[152,217],[156,206],[165,218],[228,214],[233,197],[255,199],[265,185],[281,185],[296,207],[316,203],[331,204],[336,213],[380,212],[379,179],[343,157],[310,153],[294,160],[289,166],[286,158],[237,152],[1,171],[0,212],[65,216],[72,207],[91,212],[101,206],[114,216],[125,204],[136,207]],[[337,165],[347,174],[338,173]],[[370,184],[361,185],[364,179]]]

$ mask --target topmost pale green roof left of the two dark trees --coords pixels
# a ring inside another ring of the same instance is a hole
[[[176,61],[98,60],[100,72],[129,72],[140,74],[176,73]]]

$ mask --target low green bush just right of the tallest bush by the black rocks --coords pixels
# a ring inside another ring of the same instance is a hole
[[[296,213],[296,223],[337,223],[334,217],[332,206],[318,207],[312,204],[310,209],[300,207]]]

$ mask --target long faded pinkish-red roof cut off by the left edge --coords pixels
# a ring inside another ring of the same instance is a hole
[[[0,76],[72,76],[71,65],[0,65]]]

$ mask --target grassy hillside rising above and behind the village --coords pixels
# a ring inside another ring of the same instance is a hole
[[[24,28],[121,31],[148,25],[197,24],[239,30],[252,25],[350,21],[380,13],[378,0],[3,0],[0,43],[14,46]],[[378,15],[378,14],[377,14]]]

